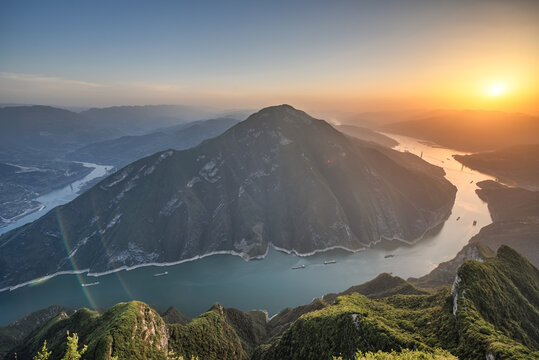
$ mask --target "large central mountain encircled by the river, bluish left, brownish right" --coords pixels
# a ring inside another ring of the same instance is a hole
[[[456,188],[410,153],[348,137],[291,106],[136,161],[0,237],[0,288],[59,271],[103,272],[212,252],[307,254],[414,241],[444,221]]]

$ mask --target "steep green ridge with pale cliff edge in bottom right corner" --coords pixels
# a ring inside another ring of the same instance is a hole
[[[539,271],[516,251],[502,246],[493,260],[466,262],[452,294],[459,357],[539,357]]]

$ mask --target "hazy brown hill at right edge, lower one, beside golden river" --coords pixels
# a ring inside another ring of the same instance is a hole
[[[539,190],[539,144],[453,157],[467,167],[492,175],[504,183]]]

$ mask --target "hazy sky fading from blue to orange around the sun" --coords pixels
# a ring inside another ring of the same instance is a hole
[[[5,1],[0,102],[539,113],[539,1]]]

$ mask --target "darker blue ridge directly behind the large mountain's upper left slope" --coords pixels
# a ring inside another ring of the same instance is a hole
[[[236,123],[238,120],[230,118],[195,121],[146,135],[123,136],[93,143],[67,154],[67,158],[121,167],[158,151],[188,149],[202,140],[222,134]]]

